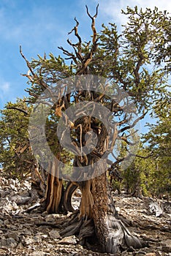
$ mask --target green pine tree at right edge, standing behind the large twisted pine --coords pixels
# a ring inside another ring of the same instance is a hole
[[[151,115],[157,119],[156,124],[148,124],[149,132],[143,136],[143,142],[148,143],[151,159],[146,160],[150,166],[148,173],[148,192],[161,197],[165,194],[167,200],[171,196],[171,92],[163,96],[162,102],[157,100]],[[142,165],[141,165],[142,166]],[[145,167],[144,167],[145,169]],[[147,168],[146,168],[147,169]]]

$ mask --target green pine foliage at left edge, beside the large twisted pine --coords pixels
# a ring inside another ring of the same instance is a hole
[[[1,110],[0,162],[4,172],[18,178],[29,173],[35,162],[28,140],[30,111],[26,99],[8,102]]]

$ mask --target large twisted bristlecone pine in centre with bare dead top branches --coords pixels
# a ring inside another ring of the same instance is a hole
[[[71,64],[65,61],[61,56],[55,57],[50,53],[50,58],[46,56],[38,56],[37,60],[28,61],[20,53],[26,61],[30,73],[28,83],[31,88],[28,89],[30,101],[34,104],[40,94],[48,89],[50,94],[51,85],[57,84],[58,81],[77,75],[99,75],[110,79],[110,91],[113,94],[113,85],[117,84],[120,89],[126,91],[129,95],[130,102],[134,102],[140,117],[132,124],[129,124],[128,116],[123,111],[123,105],[116,105],[114,100],[102,93],[94,91],[85,91],[81,87],[61,97],[58,102],[54,102],[51,108],[50,117],[47,118],[48,136],[47,142],[51,150],[58,159],[64,159],[65,151],[56,138],[56,126],[58,120],[71,105],[77,102],[99,102],[113,113],[113,127],[110,127],[110,133],[113,135],[113,145],[116,140],[124,140],[130,144],[129,129],[134,127],[145,113],[153,105],[155,99],[159,99],[164,94],[164,85],[167,85],[166,78],[168,72],[169,45],[168,38],[171,29],[170,18],[166,12],[146,9],[137,10],[127,8],[123,15],[128,17],[128,23],[124,26],[123,31],[119,35],[115,24],[102,26],[102,31],[97,34],[95,20],[98,15],[98,7],[96,14],[91,16],[86,7],[87,14],[91,19],[92,37],[90,42],[83,42],[78,32],[79,23],[75,18],[76,25],[72,32],[75,33],[77,42],[74,44],[69,39],[67,42],[73,49],[73,52],[62,47],[60,49],[71,60]],[[167,49],[167,50],[164,50]],[[165,55],[162,56],[164,51]],[[157,56],[161,58],[157,59]],[[164,65],[155,69],[150,69],[149,64]],[[67,90],[67,89],[66,89]],[[53,91],[51,91],[53,94]],[[46,104],[46,103],[45,103]],[[41,118],[41,113],[40,116]],[[143,246],[143,242],[136,236],[132,236],[128,228],[124,225],[115,211],[113,199],[107,184],[107,165],[98,165],[99,159],[102,158],[104,152],[110,149],[108,146],[109,134],[102,121],[91,116],[82,116],[73,124],[70,124],[72,143],[77,148],[86,145],[86,134],[93,131],[98,138],[96,148],[87,156],[67,155],[66,160],[74,166],[85,167],[91,163],[97,163],[94,172],[101,171],[100,176],[89,179],[88,181],[75,181],[82,192],[82,201],[80,204],[80,212],[75,215],[75,219],[69,223],[69,226],[61,232],[62,236],[77,235],[80,241],[85,241],[88,236],[94,236],[99,239],[100,244],[105,252],[118,253],[129,246],[134,248]],[[55,131],[55,132],[53,132]],[[112,145],[112,146],[113,146]],[[39,154],[39,152],[37,152]],[[73,157],[73,158],[72,158]],[[116,159],[120,162],[122,159]],[[48,161],[48,159],[47,159]],[[110,163],[110,161],[108,162]],[[113,168],[115,165],[112,166]],[[64,198],[64,181],[59,178],[58,165],[56,161],[49,163],[49,174],[47,178],[47,190],[45,193],[45,210],[50,213],[57,213],[64,210],[64,202],[67,210],[67,198]],[[67,192],[65,193],[67,197]]]

